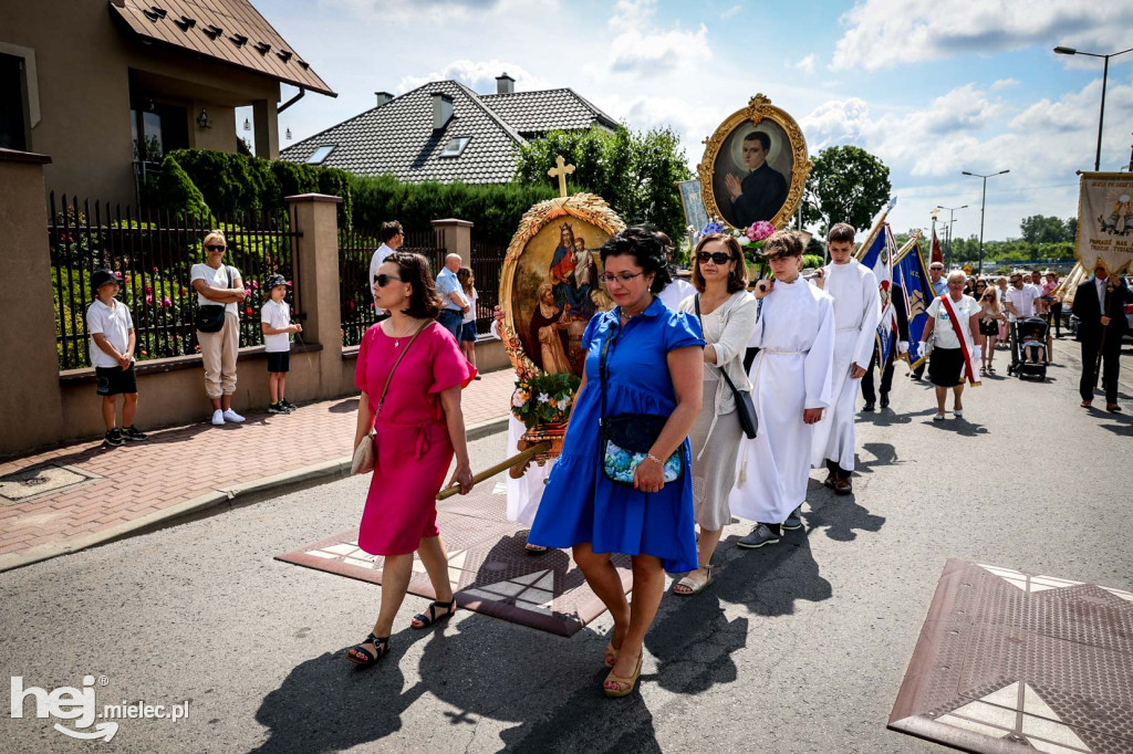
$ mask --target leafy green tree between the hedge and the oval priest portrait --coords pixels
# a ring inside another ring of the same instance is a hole
[[[574,165],[571,183],[604,198],[627,224],[649,223],[674,240],[684,238],[675,182],[692,173],[673,130],[551,131],[519,148],[516,181],[557,189],[559,179],[547,170],[559,155]]]

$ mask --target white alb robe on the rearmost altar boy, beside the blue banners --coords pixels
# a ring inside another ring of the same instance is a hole
[[[850,379],[850,369],[869,368],[881,324],[881,294],[872,269],[850,259],[825,269],[824,290],[834,299],[834,365],[830,395],[834,404],[815,427],[815,466],[836,462],[843,470],[854,466],[854,417],[861,378]]]

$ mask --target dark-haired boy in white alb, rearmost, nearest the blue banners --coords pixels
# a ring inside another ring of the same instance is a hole
[[[869,368],[881,322],[881,295],[877,276],[853,258],[857,231],[846,223],[835,223],[826,237],[830,264],[823,267],[816,284],[834,299],[834,365],[830,394],[834,405],[815,429],[813,465],[824,462],[829,473],[823,482],[838,495],[853,491],[850,475],[854,459],[854,415],[858,388]]]

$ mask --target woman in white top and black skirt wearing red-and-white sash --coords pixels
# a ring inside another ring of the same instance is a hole
[[[935,345],[929,357],[929,382],[936,386],[936,415],[934,421],[944,421],[944,403],[948,388],[953,393],[953,412],[960,419],[964,415],[961,395],[964,379],[979,382],[972,370],[981,358],[980,305],[970,295],[964,295],[964,273],[954,269],[948,274],[948,290],[937,297],[928,308],[928,324],[925,326],[925,343],[935,335]]]

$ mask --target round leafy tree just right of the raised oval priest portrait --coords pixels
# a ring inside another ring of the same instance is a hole
[[[859,230],[868,228],[893,190],[885,163],[855,146],[827,147],[811,162],[802,202],[803,223],[819,223],[821,235],[838,222]]]

